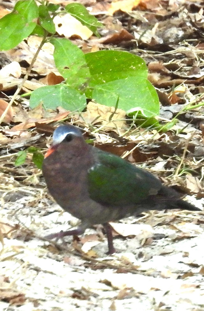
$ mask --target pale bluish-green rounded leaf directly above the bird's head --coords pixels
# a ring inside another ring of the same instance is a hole
[[[70,111],[82,111],[86,107],[86,96],[66,84],[43,86],[32,92],[30,107],[33,109],[43,104],[45,109],[61,106]]]

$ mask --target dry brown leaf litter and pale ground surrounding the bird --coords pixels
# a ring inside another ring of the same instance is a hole
[[[202,4],[84,4],[104,18],[102,38],[84,41],[75,31],[72,42],[86,52],[113,49],[114,44],[116,50],[143,57],[149,65],[149,80],[158,88],[160,121],[177,118],[178,122],[162,133],[136,125],[130,128],[121,109],[113,114],[114,108],[97,103],[90,102],[88,110],[77,115],[61,108],[45,113],[38,107],[31,112],[27,100],[16,98],[0,136],[0,306],[7,311],[202,310],[203,212],[151,211],[112,224],[119,253],[107,256],[100,226],[76,240],[66,237],[66,244],[45,241],[45,235],[76,226],[78,220],[53,202],[31,155],[24,165],[14,167],[22,148],[35,144],[44,152],[51,143],[49,123],[55,126],[66,118],[84,128],[85,137],[94,140],[95,146],[139,163],[166,185],[188,193],[187,199],[197,207],[203,206],[203,106],[196,107],[203,100]],[[31,36],[1,53],[2,67],[7,66],[0,77],[1,100],[6,104],[38,45],[39,38]],[[48,77],[51,72],[60,77],[52,54],[52,45],[44,46],[23,92],[59,83]],[[10,69],[12,62],[21,64],[21,72],[16,63]],[[44,80],[39,82],[39,76]]]

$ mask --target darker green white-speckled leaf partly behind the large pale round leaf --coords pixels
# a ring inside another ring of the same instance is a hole
[[[85,59],[91,75],[86,90],[88,98],[92,98],[92,91],[96,85],[127,77],[147,78],[145,61],[128,52],[98,51],[85,54]]]

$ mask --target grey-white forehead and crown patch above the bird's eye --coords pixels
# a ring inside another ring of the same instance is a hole
[[[72,125],[61,125],[54,130],[53,133],[53,145],[62,142],[68,134],[73,134],[75,136],[82,136],[81,131]]]

